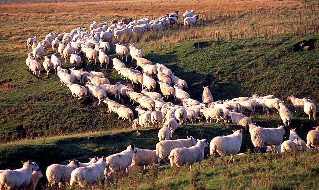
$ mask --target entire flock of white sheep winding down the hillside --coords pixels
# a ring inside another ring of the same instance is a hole
[[[193,11],[186,11],[183,15],[184,24],[195,24],[198,16],[193,16]],[[175,21],[176,19],[176,21]],[[193,19],[196,19],[193,21]],[[133,33],[142,31],[138,28],[145,27],[146,30],[158,30],[159,25],[163,27],[164,23],[176,23],[178,20],[178,11],[167,16],[161,17],[159,20],[150,21],[141,19],[130,21],[130,19],[122,19],[122,23],[112,23],[107,27],[107,22],[101,23],[101,27],[97,27],[94,22],[90,25],[91,34],[88,34],[84,28],[77,28],[69,33],[59,34],[57,37],[54,33],[49,33],[45,40],[41,43],[36,43],[35,38],[29,38],[27,41],[28,47],[33,49],[32,53],[28,54],[26,64],[29,70],[36,74],[41,70],[41,65],[38,62],[44,50],[50,47],[50,44],[55,52],[57,49],[62,58],[70,61],[72,64],[80,64],[83,59],[88,58],[90,63],[94,60],[94,64],[98,60],[101,64],[109,62],[108,52],[110,45],[107,40],[114,35],[116,38],[121,36],[124,30],[128,32],[128,28],[132,28]],[[112,21],[115,22],[115,21]],[[160,24],[159,24],[160,23]],[[121,28],[121,29],[120,29]],[[111,34],[111,35],[110,35]],[[88,185],[94,185],[98,181],[103,181],[105,178],[112,180],[115,174],[125,175],[130,171],[132,166],[139,166],[145,169],[154,164],[160,166],[162,162],[170,162],[171,167],[177,167],[188,164],[190,170],[195,162],[199,162],[202,167],[204,159],[204,148],[210,148],[212,156],[212,164],[215,167],[214,159],[217,155],[221,157],[223,163],[224,156],[231,155],[229,162],[234,161],[234,156],[240,150],[242,143],[242,133],[244,130],[251,136],[251,141],[255,146],[255,152],[260,151],[261,147],[267,147],[269,151],[288,152],[294,149],[301,151],[310,149],[310,147],[319,148],[319,127],[309,131],[307,135],[307,143],[305,143],[296,132],[288,129],[292,121],[292,114],[285,106],[284,102],[276,98],[274,95],[259,97],[257,94],[252,97],[238,97],[232,100],[215,101],[208,89],[208,86],[203,87],[202,101],[190,98],[186,92],[187,83],[185,80],[175,76],[174,73],[163,64],[153,64],[150,60],[143,58],[143,52],[134,44],[129,45],[130,55],[132,60],[136,60],[136,68],[127,68],[126,65],[118,58],[112,59],[113,68],[127,82],[128,79],[132,85],[137,87],[142,86],[140,92],[135,92],[133,88],[116,82],[110,84],[102,72],[87,72],[85,70],[62,68],[61,61],[54,54],[49,59],[44,57],[43,67],[47,75],[53,69],[57,70],[57,75],[60,78],[61,86],[68,86],[74,97],[78,99],[87,95],[87,88],[90,94],[107,104],[108,113],[114,112],[123,120],[128,119],[132,122],[132,128],[149,127],[162,125],[158,132],[159,143],[156,144],[155,150],[139,149],[134,145],[127,146],[127,149],[110,156],[94,157],[88,163],[80,163],[77,160],[71,160],[68,165],[52,164],[46,170],[48,187],[53,188],[61,184],[69,183],[71,186],[84,186],[84,182]],[[122,60],[124,56],[128,57],[128,48],[126,46],[115,44],[115,52]],[[33,56],[32,56],[33,54]],[[82,56],[80,56],[82,54]],[[84,58],[83,58],[84,57]],[[107,66],[106,66],[107,67]],[[142,72],[136,70],[142,68]],[[39,76],[38,74],[38,76]],[[156,79],[156,80],[155,80]],[[75,83],[75,82],[78,82]],[[85,86],[82,84],[85,83]],[[160,86],[160,92],[154,92],[157,86]],[[86,88],[87,87],[87,88]],[[129,98],[133,104],[138,104],[135,110],[138,113],[138,118],[134,119],[133,110],[108,98],[108,95],[114,95],[115,99]],[[171,102],[165,102],[169,97],[173,97],[182,105],[175,105]],[[296,110],[304,110],[304,112],[315,120],[316,106],[310,99],[299,99],[294,95],[289,95],[287,100],[290,100]],[[283,126],[277,128],[262,128],[252,123],[248,114],[254,115],[258,110],[268,112],[274,109],[279,113],[283,121]],[[243,113],[246,113],[244,115]],[[201,122],[203,119],[207,123],[212,121],[229,122],[230,120],[244,129],[234,130],[233,134],[227,136],[217,136],[210,141],[206,139],[195,139],[190,136],[186,139],[170,140],[172,134],[177,129],[178,124],[183,125],[185,122]],[[286,137],[287,141],[283,141]],[[229,163],[228,162],[228,163]],[[23,167],[17,170],[2,170],[0,171],[0,189],[27,189],[34,190],[35,186],[42,177],[41,171],[36,163],[27,161],[23,163]]]

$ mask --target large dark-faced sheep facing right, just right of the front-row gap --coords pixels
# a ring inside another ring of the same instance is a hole
[[[260,147],[280,146],[283,142],[284,135],[286,135],[286,137],[289,135],[288,128],[284,126],[278,126],[277,128],[254,127],[252,129],[251,126],[249,126],[249,132],[251,141],[255,147],[254,154],[256,154],[257,150],[260,151]]]

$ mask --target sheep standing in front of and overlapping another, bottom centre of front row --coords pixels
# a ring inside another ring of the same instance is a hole
[[[184,164],[189,165],[189,170],[191,170],[195,162],[199,162],[200,168],[202,167],[202,161],[204,159],[204,149],[208,147],[209,143],[206,139],[197,140],[195,146],[189,148],[175,148],[173,149],[168,158],[170,159],[170,166],[176,165],[180,167]]]

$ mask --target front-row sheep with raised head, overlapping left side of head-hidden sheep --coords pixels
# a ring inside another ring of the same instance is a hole
[[[126,148],[126,150],[106,157],[106,176],[110,176],[111,179],[113,179],[114,173],[120,171],[124,173],[124,170],[126,170],[132,164],[132,159],[134,156],[133,154],[135,154],[136,152],[137,150],[135,146],[131,144]]]

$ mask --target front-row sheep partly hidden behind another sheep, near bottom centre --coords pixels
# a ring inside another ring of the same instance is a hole
[[[177,140],[164,140],[160,141],[156,144],[156,156],[159,158],[158,166],[160,166],[160,162],[163,160],[168,163],[166,159],[168,158],[170,152],[174,148],[182,148],[182,147],[191,147],[196,145],[196,139],[192,136],[187,137],[186,139],[177,139]]]

